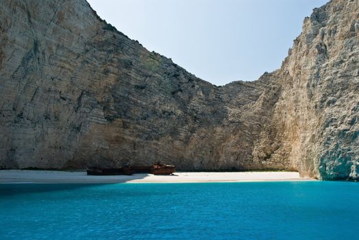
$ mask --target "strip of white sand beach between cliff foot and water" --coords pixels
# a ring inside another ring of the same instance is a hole
[[[0,183],[264,182],[314,180],[295,171],[178,172],[173,176],[87,176],[86,171],[0,170]]]

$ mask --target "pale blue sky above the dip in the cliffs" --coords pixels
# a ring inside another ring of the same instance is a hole
[[[102,19],[216,85],[281,66],[327,0],[88,0]]]

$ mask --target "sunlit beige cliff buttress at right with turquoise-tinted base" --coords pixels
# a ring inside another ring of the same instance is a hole
[[[287,77],[270,122],[302,175],[358,179],[358,61],[359,1],[314,9],[280,69]]]

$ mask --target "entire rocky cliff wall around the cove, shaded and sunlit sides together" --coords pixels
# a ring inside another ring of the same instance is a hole
[[[281,69],[222,87],[147,51],[84,0],[0,6],[0,167],[161,160],[357,178],[356,0],[314,10]]]

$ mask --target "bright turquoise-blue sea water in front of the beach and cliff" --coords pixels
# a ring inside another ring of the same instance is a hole
[[[356,182],[0,184],[0,239],[358,239]]]

